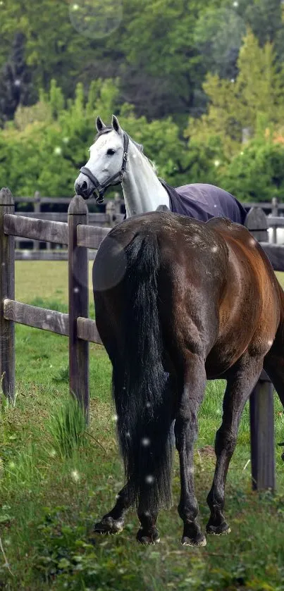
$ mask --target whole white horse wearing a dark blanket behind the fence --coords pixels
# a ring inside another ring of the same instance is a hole
[[[242,204],[220,187],[193,183],[174,189],[159,179],[143,147],[121,129],[116,116],[109,126],[98,117],[97,132],[89,160],[75,180],[75,191],[84,199],[96,191],[101,203],[107,187],[121,182],[127,218],[169,209],[205,222],[212,217],[245,222]]]

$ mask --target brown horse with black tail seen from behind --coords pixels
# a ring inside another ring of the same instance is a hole
[[[94,530],[118,533],[137,504],[137,540],[159,541],[171,503],[173,425],[180,457],[182,544],[205,545],[197,520],[193,450],[207,380],[227,380],[216,433],[206,531],[225,534],[226,475],[242,409],[264,366],[284,402],[284,294],[248,230],[145,213],[113,228],[93,269],[96,322],[113,366],[126,484]]]

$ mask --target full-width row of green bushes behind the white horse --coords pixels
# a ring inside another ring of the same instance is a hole
[[[78,170],[94,141],[95,116],[109,123],[111,113],[117,112],[117,101],[118,80],[92,82],[87,99],[79,84],[67,105],[52,81],[49,93],[41,92],[36,105],[19,108],[14,121],[0,130],[0,186],[23,197],[36,189],[43,195],[72,196]],[[119,118],[123,129],[144,144],[158,175],[174,187],[210,183],[240,201],[282,197],[284,139],[281,132],[277,137],[269,135],[266,116],[259,114],[254,139],[245,147],[238,144],[238,154],[230,158],[221,135],[214,130],[209,134],[202,120],[198,135],[195,125],[182,134],[171,117],[151,122],[144,116],[137,118],[129,104],[121,106]]]

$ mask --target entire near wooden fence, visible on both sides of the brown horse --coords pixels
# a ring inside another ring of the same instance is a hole
[[[267,243],[264,211],[249,211],[246,225],[275,262],[276,270],[284,270],[284,247]],[[98,249],[109,230],[88,224],[87,204],[78,195],[70,201],[68,221],[63,222],[15,215],[11,192],[0,191],[0,375],[2,390],[11,401],[15,398],[16,322],[69,337],[70,392],[88,417],[88,343],[102,344],[95,321],[88,318],[88,249]],[[15,236],[68,244],[68,314],[15,301]],[[252,485],[274,489],[273,385],[265,372],[250,398],[250,428]]]

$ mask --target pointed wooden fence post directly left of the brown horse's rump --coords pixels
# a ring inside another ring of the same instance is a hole
[[[75,195],[68,207],[69,385],[89,419],[89,342],[78,339],[77,318],[88,317],[88,249],[77,245],[78,224],[87,224],[87,204]]]

